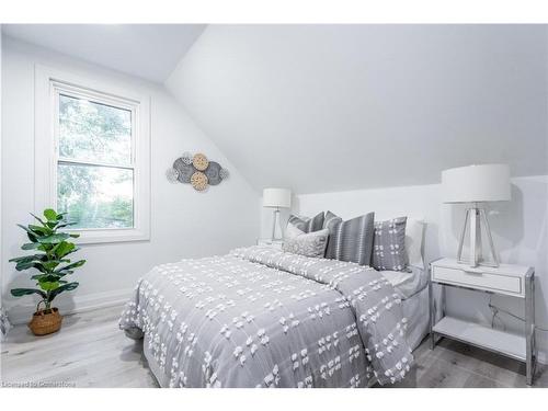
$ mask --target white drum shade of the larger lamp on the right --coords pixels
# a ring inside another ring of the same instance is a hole
[[[482,164],[442,172],[444,203],[480,203],[510,201],[510,167]]]

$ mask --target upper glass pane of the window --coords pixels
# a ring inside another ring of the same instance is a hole
[[[59,155],[84,161],[129,164],[132,112],[60,94]]]

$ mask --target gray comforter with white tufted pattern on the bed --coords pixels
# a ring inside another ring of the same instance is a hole
[[[163,387],[364,387],[409,370],[400,304],[369,267],[251,247],[155,267],[119,327]]]

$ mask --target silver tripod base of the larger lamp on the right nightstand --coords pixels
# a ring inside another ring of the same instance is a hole
[[[481,222],[486,227],[486,232],[489,243],[489,253],[492,260],[484,260],[481,250]],[[470,256],[469,260],[463,259],[463,246],[465,242],[467,227],[470,226]],[[493,246],[493,238],[491,236],[491,229],[489,228],[489,221],[487,219],[486,210],[483,208],[472,207],[466,210],[465,225],[463,227],[463,232],[460,233],[460,240],[458,242],[457,261],[460,264],[469,264],[471,267],[478,265],[498,267],[499,258],[496,256],[496,251]]]

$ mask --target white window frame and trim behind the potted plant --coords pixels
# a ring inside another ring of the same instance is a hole
[[[132,165],[134,170],[134,227],[106,229],[75,229],[78,243],[144,241],[150,239],[150,98],[136,95],[117,84],[110,84],[89,76],[77,76],[60,70],[35,66],[34,107],[34,208],[41,214],[57,205],[57,164],[70,161],[59,158],[58,96],[59,94],[88,98],[101,104],[132,111]],[[134,121],[135,118],[135,121]],[[114,165],[98,161],[76,160],[78,164]],[[124,165],[115,165],[124,168]]]

